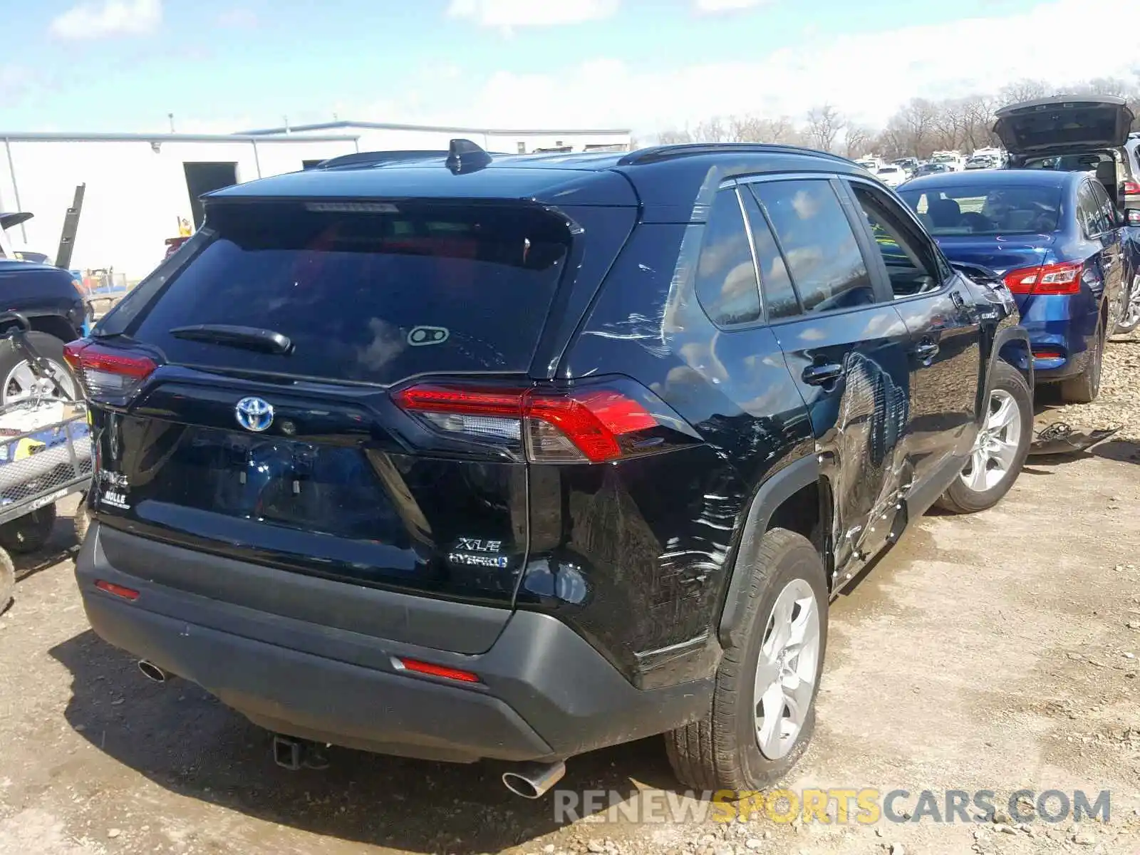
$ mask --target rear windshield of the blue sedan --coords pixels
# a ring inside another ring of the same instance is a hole
[[[1009,235],[1057,230],[1059,187],[969,184],[899,193],[933,235]]]

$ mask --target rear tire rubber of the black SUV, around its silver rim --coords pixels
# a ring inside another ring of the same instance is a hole
[[[692,724],[667,733],[666,751],[674,773],[698,790],[757,790],[779,781],[807,749],[815,728],[815,697],[828,645],[828,583],[820,553],[807,538],[772,529],[764,534],[750,567],[748,605],[739,644],[724,651],[712,706]],[[754,683],[757,660],[776,597],[790,581],[803,579],[815,595],[820,618],[819,662],[805,720],[795,743],[780,759],[760,752],[756,733]]]

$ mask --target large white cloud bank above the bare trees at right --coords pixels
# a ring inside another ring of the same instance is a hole
[[[1140,32],[1140,5],[1114,5],[1113,26]],[[1082,66],[1058,63],[1056,51],[995,48],[1048,32],[1064,32],[1068,44],[1096,44],[1104,21],[1089,14],[1086,0],[1053,0],[1017,15],[805,36],[747,62],[649,71],[620,59],[592,59],[542,73],[498,72],[462,104],[440,90],[421,93],[418,107],[422,119],[480,127],[632,127],[645,135],[712,115],[800,119],[823,103],[881,124],[913,97],[994,92],[1024,78],[1056,87],[1093,76],[1132,78],[1127,51],[1104,51],[1094,65]]]

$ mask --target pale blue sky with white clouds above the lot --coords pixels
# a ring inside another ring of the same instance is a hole
[[[0,132],[231,131],[340,119],[870,124],[913,96],[1129,75],[1105,0],[0,0]],[[1114,47],[1116,46],[1116,47]]]

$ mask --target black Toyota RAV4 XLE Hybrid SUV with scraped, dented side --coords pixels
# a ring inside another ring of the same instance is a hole
[[[206,223],[67,357],[91,625],[277,735],[511,764],[667,734],[755,788],[828,603],[1029,442],[1012,300],[777,146],[331,161]],[[858,702],[858,699],[850,699]]]

